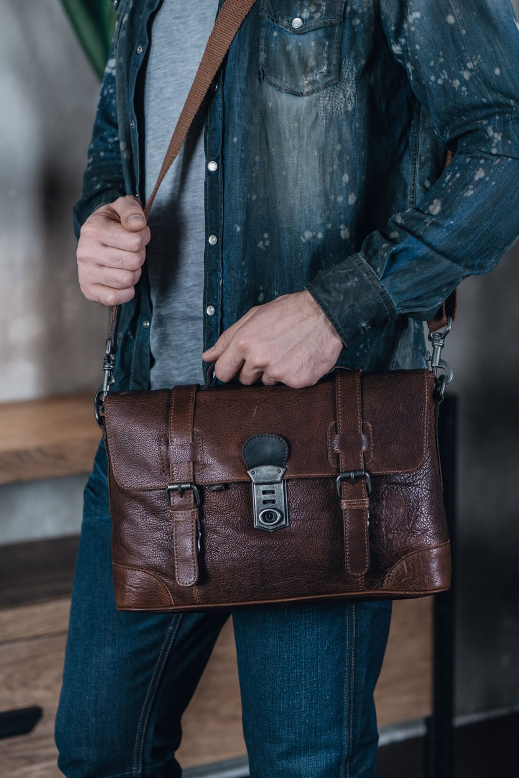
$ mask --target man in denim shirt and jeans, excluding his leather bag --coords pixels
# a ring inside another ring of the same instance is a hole
[[[336,364],[423,366],[423,320],[519,234],[512,6],[258,0],[147,225],[141,202],[218,7],[120,3],[75,207],[83,293],[123,303],[114,389],[194,383],[215,360],[221,380],[292,387]],[[180,716],[227,617],[116,612],[100,447],[62,772],[179,776]],[[233,614],[253,778],[373,778],[389,619],[383,602]]]

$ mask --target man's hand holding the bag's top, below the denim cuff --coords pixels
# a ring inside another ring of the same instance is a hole
[[[222,332],[204,362],[216,362],[214,374],[242,384],[313,386],[332,370],[343,348],[333,324],[307,292],[286,294],[251,308]]]

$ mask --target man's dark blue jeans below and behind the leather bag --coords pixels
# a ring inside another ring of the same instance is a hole
[[[228,613],[117,612],[106,453],[85,487],[56,720],[68,778],[177,778],[180,718]],[[253,778],[374,778],[390,602],[232,615]],[[207,762],[200,752],[200,762]]]

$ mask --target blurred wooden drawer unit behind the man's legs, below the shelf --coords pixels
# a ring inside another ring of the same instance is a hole
[[[31,734],[0,741],[0,775],[59,778],[53,741],[71,580],[78,538],[0,546],[0,710],[38,705]],[[431,710],[431,600],[395,602],[376,691],[379,727]],[[179,762],[234,759],[246,753],[232,622],[221,632],[183,717]]]

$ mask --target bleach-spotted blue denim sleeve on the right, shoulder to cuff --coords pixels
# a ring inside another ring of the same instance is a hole
[[[519,24],[510,0],[381,0],[381,23],[455,157],[414,207],[308,284],[345,345],[402,314],[431,317],[519,237]]]

